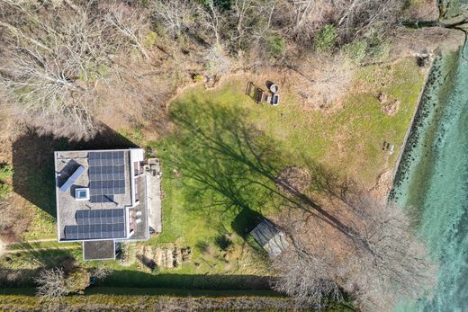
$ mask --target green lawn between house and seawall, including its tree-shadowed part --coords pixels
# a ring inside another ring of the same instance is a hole
[[[395,165],[424,73],[407,58],[393,67],[365,67],[357,75],[358,87],[373,92],[350,94],[335,113],[304,112],[287,91],[277,107],[257,105],[244,94],[243,80],[216,91],[196,86],[175,99],[174,133],[150,144],[164,171],[164,231],[155,242],[183,239],[197,245],[235,233],[230,224],[246,207],[275,213],[265,192],[244,185],[252,178],[249,161],[270,170],[262,174],[278,174],[287,165],[319,164],[365,185],[375,183],[378,174]],[[388,80],[374,81],[377,75]],[[398,99],[400,111],[383,114],[375,90]],[[395,144],[392,156],[382,150],[383,141]]]

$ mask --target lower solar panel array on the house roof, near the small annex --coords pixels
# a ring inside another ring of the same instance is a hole
[[[77,210],[76,224],[65,227],[65,239],[125,237],[124,209]]]

